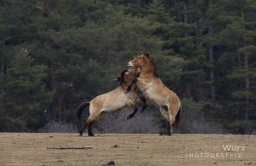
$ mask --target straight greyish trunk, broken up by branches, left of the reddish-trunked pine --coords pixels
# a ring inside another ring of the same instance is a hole
[[[211,5],[212,5],[212,1],[209,0],[209,10],[211,10]],[[212,15],[209,14],[209,20],[212,19]],[[208,27],[208,34],[211,35],[212,34],[212,27],[211,25],[209,25]],[[209,45],[209,48],[208,48],[209,52],[208,52],[208,55],[209,55],[209,62],[213,63],[213,46],[212,45]],[[211,80],[214,78],[214,71],[211,71],[209,73],[209,76],[211,78]],[[215,107],[216,106],[216,102],[215,102],[215,86],[211,85],[211,106]]]

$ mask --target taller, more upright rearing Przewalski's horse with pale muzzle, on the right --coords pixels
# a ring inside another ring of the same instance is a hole
[[[142,52],[128,62],[127,66],[129,68],[141,68],[140,76],[134,79],[132,84],[136,83],[136,86],[140,88],[145,98],[155,106],[160,107],[160,112],[166,120],[166,129],[160,135],[168,133],[169,126],[171,133],[168,135],[172,135],[174,125],[178,127],[180,123],[182,104],[178,96],[160,80],[155,58],[152,58],[148,52]],[[130,92],[132,84],[128,86],[125,93]]]

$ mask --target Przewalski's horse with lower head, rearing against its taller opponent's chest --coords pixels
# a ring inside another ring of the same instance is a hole
[[[136,112],[138,111],[137,106],[134,104],[136,102],[143,102],[142,111],[146,109],[146,100],[145,98],[140,98],[137,96],[137,87],[136,85],[132,86],[131,93],[124,94],[127,86],[137,78],[140,74],[140,69],[124,69],[120,73],[120,77],[116,78],[116,81],[120,81],[120,86],[118,86],[115,90],[108,92],[106,94],[102,94],[97,96],[90,102],[84,102],[78,106],[76,110],[76,116],[80,124],[82,125],[79,133],[82,136],[84,128],[88,125],[88,135],[94,136],[92,133],[92,124],[101,118],[104,117],[106,113],[113,113],[125,108],[126,106],[130,106],[134,109],[134,112],[127,117],[127,120],[134,117]],[[90,116],[86,119],[84,124],[81,121],[82,111],[86,106],[90,105]]]

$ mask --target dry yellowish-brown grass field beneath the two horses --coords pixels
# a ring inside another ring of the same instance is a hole
[[[86,135],[86,134],[84,134]],[[0,133],[0,165],[244,165],[256,163],[256,135]],[[47,149],[59,146],[92,149]],[[119,147],[112,148],[113,145]],[[219,151],[193,151],[191,146],[219,146]],[[222,145],[245,146],[223,151]],[[139,147],[139,148],[138,148]],[[186,157],[186,153],[241,153],[241,157]]]

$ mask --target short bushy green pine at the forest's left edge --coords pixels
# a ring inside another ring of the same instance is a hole
[[[21,50],[7,74],[1,74],[1,131],[36,131],[46,122],[44,112],[53,96],[42,82],[47,67],[32,63],[27,50]]]

